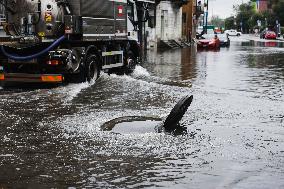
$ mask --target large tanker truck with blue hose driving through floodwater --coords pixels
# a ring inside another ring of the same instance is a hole
[[[154,0],[0,0],[0,82],[63,83],[131,73]]]

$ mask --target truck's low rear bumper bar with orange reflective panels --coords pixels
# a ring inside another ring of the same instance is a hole
[[[0,81],[5,83],[62,83],[64,77],[61,74],[0,73]]]

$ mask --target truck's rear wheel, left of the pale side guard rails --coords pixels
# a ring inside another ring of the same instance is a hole
[[[100,67],[96,55],[90,55],[86,60],[86,79],[88,82],[100,77]]]

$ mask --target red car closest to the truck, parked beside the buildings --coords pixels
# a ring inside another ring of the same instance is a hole
[[[198,49],[212,49],[216,50],[220,48],[220,39],[217,35],[204,34],[201,39],[197,41]]]

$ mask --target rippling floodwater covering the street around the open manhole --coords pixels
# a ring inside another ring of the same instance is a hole
[[[0,188],[284,188],[284,48],[275,44],[148,52],[131,76],[0,88]],[[151,121],[101,129],[125,116],[164,119],[191,94],[187,134],[155,132]]]

